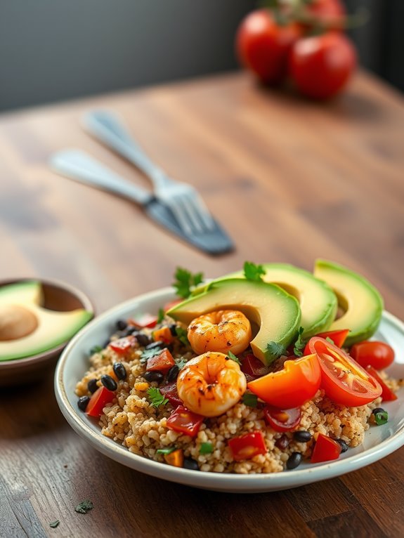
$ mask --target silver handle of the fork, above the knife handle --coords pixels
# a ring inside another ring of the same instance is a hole
[[[152,181],[156,188],[167,183],[167,174],[156,166],[133,140],[117,114],[93,110],[83,118],[84,128],[119,155],[128,159]]]

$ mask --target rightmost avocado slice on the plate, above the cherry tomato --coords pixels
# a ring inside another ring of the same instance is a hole
[[[327,260],[316,260],[314,275],[334,289],[344,314],[330,330],[349,329],[345,346],[367,340],[376,332],[382,319],[383,298],[365,277]]]

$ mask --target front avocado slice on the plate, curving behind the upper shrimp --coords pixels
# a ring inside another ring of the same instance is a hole
[[[240,310],[259,327],[251,347],[263,364],[278,358],[299,329],[300,308],[296,298],[275,284],[241,278],[211,282],[200,294],[171,308],[167,315],[189,324],[195,317],[219,309]]]

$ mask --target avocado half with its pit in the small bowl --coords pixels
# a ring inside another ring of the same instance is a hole
[[[41,306],[41,284],[27,280],[0,288],[0,361],[37,355],[70,339],[93,314]]]

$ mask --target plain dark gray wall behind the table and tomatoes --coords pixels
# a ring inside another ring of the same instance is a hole
[[[0,110],[230,70],[254,0],[0,0]],[[404,88],[404,0],[365,4],[363,64]]]

